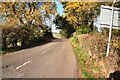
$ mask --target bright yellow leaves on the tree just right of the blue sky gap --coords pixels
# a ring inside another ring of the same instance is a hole
[[[79,23],[79,21],[86,20],[90,13],[94,13],[97,6],[95,2],[68,2],[65,4],[64,12],[70,22]]]

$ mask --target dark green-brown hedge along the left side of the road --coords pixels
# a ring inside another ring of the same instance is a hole
[[[43,33],[45,33],[43,35]],[[52,33],[40,32],[38,27],[4,27],[2,28],[2,49],[17,48],[30,45],[32,42],[40,42],[43,37],[52,37]]]

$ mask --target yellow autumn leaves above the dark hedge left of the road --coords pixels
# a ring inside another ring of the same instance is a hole
[[[0,12],[4,14],[3,17],[6,19],[6,22],[11,22],[11,24],[16,25],[19,23],[22,25],[24,23],[22,20],[23,17],[26,22],[36,19],[38,24],[42,24],[42,14],[54,14],[56,9],[55,4],[50,2],[41,3],[40,8],[36,2],[5,2],[0,4]],[[40,21],[41,23],[39,23]]]

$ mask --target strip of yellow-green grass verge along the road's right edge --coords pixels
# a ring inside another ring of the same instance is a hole
[[[90,61],[88,54],[80,47],[79,41],[76,37],[70,38],[71,44],[74,48],[74,52],[77,58],[77,63],[79,70],[82,72],[83,78],[88,78],[87,80],[95,80],[94,71],[98,71],[98,67],[94,65],[94,61]]]

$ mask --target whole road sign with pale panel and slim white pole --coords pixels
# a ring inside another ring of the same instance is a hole
[[[101,13],[100,13],[100,26],[109,28],[109,38],[108,38],[108,46],[107,46],[107,53],[106,53],[106,57],[108,57],[109,50],[110,50],[112,29],[120,29],[120,8],[102,5]]]

